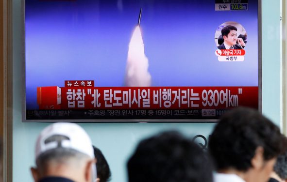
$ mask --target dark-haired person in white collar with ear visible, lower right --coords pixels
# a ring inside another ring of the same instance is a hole
[[[251,108],[226,113],[209,137],[215,182],[267,182],[286,139],[270,120]]]

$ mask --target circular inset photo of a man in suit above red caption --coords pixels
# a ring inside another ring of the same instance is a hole
[[[244,49],[247,43],[247,33],[244,27],[234,21],[219,25],[214,36],[218,49]]]

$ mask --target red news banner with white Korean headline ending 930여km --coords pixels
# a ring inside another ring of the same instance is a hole
[[[258,108],[258,87],[95,87],[92,80],[38,87],[39,109]]]

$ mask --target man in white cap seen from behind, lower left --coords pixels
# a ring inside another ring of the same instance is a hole
[[[35,182],[94,182],[95,157],[91,139],[74,123],[54,123],[38,136]]]

